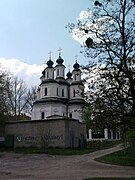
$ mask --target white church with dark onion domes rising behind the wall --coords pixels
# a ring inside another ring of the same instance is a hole
[[[80,65],[73,65],[73,71],[65,77],[64,60],[59,53],[54,62],[49,57],[47,67],[43,70],[41,84],[38,87],[37,99],[33,104],[32,120],[52,117],[69,117],[82,122],[81,111],[86,102],[83,98],[84,84],[81,80]]]

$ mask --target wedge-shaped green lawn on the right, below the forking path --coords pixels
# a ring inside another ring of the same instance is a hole
[[[99,162],[118,164],[122,166],[135,166],[135,156],[133,156],[130,148],[102,156],[96,160]]]

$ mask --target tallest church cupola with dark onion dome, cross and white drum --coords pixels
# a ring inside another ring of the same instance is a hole
[[[61,49],[59,49],[59,58],[56,60],[56,62],[56,78],[65,78],[65,66],[63,65],[64,60],[61,58]]]

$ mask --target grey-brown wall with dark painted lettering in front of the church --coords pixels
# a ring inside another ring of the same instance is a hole
[[[68,118],[8,122],[8,135],[14,136],[14,147],[79,147],[86,139],[86,127]]]

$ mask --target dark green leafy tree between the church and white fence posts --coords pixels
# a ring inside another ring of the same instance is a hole
[[[118,117],[114,117],[101,100],[98,97],[82,112],[82,119],[86,123],[87,130],[92,129],[96,134],[103,134],[105,128],[115,131],[120,125]]]

